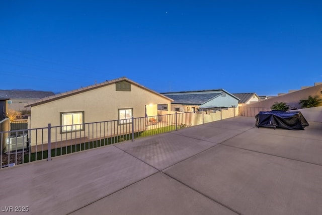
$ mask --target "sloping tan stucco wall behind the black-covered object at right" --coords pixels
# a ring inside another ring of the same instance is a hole
[[[313,87],[305,88],[302,90],[298,90],[292,93],[283,94],[277,97],[273,97],[270,99],[260,100],[256,103],[244,104],[239,109],[240,116],[254,116],[259,111],[268,111],[270,107],[274,104],[274,102],[285,102],[291,107],[300,108],[299,101],[301,99],[307,99],[308,96],[318,95],[322,97],[320,91],[322,90],[322,85],[316,85]]]

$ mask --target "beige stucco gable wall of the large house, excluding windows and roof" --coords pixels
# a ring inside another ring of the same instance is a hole
[[[84,122],[90,123],[117,120],[118,109],[121,108],[133,108],[132,114],[134,117],[145,117],[145,105],[148,107],[148,114],[157,115],[157,104],[168,104],[170,106],[170,103],[171,101],[167,98],[158,96],[157,94],[137,87],[134,84],[131,84],[131,91],[116,91],[115,84],[111,84],[33,106],[31,108],[31,128],[48,127],[48,123],[51,123],[52,127],[59,126],[60,112],[84,111]],[[101,131],[97,131],[97,129],[101,128],[96,127],[103,126],[102,123],[90,126],[90,134],[84,135],[89,139],[97,138],[96,133],[101,133]],[[110,132],[109,135],[113,135],[111,134],[111,131],[114,132],[114,130],[116,130],[116,132],[120,134],[124,132],[124,129],[130,131],[131,126],[118,125],[117,122],[115,122],[110,124],[108,129]],[[77,135],[82,137],[80,133],[77,134],[76,132],[68,135],[57,135],[59,129],[57,129],[57,132],[53,130],[55,129],[52,129],[51,132],[52,141],[74,138],[75,136],[77,137]],[[33,131],[33,134],[31,135],[31,145],[35,145],[36,131]],[[37,138],[37,145],[41,142],[48,142],[48,131],[46,129],[43,131],[38,130],[37,136],[39,136]],[[40,138],[40,136],[42,137]]]

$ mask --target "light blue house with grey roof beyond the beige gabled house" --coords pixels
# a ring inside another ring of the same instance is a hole
[[[201,109],[218,109],[237,107],[239,99],[223,90],[202,90],[161,93],[174,101],[171,102],[171,111],[194,112]],[[166,106],[159,105],[158,110],[167,110]]]

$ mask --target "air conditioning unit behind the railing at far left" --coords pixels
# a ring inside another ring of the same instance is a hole
[[[28,149],[28,138],[27,133],[18,134],[17,136],[10,136],[6,138],[6,149],[5,153],[16,152],[20,150]]]

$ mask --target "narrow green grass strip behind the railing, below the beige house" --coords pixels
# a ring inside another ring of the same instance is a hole
[[[145,130],[142,132],[134,133],[134,139],[139,138],[139,137],[151,136],[151,135],[155,135],[155,134],[159,134],[159,133],[165,133],[165,132],[169,132],[169,131],[173,131],[173,130],[176,130],[175,125],[169,125],[166,127],[159,127],[159,128],[155,128],[155,129],[149,129],[149,130]],[[100,140],[83,142],[81,144],[66,146],[66,147],[62,147],[62,148],[58,148],[58,149],[52,149],[50,153],[51,153],[51,157],[56,157],[56,156],[66,155],[66,154],[70,154],[70,153],[74,153],[74,152],[80,152],[80,151],[84,151],[84,150],[88,150],[88,149],[94,149],[97,147],[107,146],[107,145],[115,144],[117,142],[123,142],[123,141],[131,140],[131,139],[132,139],[132,134],[124,134],[124,135],[109,137],[109,138],[100,139]],[[36,161],[36,156],[37,156],[37,161],[42,160],[42,159],[47,159],[48,158],[48,150],[37,152],[37,153],[31,153],[30,158],[29,158],[29,154],[24,155],[24,163]]]

